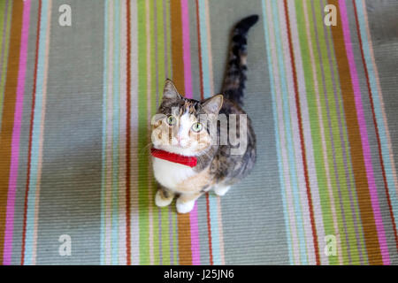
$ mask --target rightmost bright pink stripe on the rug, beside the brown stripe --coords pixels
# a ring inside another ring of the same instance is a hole
[[[376,222],[376,229],[379,236],[379,245],[381,249],[381,256],[383,258],[383,264],[390,264],[390,256],[388,254],[388,247],[386,241],[386,234],[384,232],[383,221],[379,209],[379,198],[377,193],[377,187],[373,176],[373,168],[371,165],[371,149],[368,141],[368,133],[366,130],[366,122],[364,119],[364,108],[361,100],[361,89],[359,88],[359,80],[356,72],[356,63],[354,59],[354,53],[352,50],[351,34],[349,32],[347,7],[344,0],[339,0],[339,6],[341,11],[341,25],[343,28],[344,42],[347,50],[349,72],[351,74],[352,84],[354,88],[354,96],[356,101],[356,115],[358,118],[359,129],[361,132],[361,142],[364,149],[364,163],[366,168],[366,175],[369,183],[369,191],[371,194],[371,208]]]

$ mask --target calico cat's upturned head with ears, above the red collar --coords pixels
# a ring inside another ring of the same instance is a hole
[[[184,156],[199,156],[215,144],[206,119],[214,119],[223,96],[198,102],[179,95],[171,80],[166,80],[162,103],[152,119],[152,144]]]

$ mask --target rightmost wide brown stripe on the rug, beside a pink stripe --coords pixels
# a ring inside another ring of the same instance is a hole
[[[329,4],[339,6],[337,0],[329,0]],[[350,145],[354,178],[356,180],[356,192],[359,210],[364,228],[364,240],[368,252],[369,264],[383,264],[379,249],[379,239],[376,224],[371,209],[371,195],[364,167],[364,152],[362,149],[359,125],[356,119],[356,103],[354,90],[349,73],[348,58],[342,32],[341,18],[338,16],[337,26],[331,27],[333,34],[334,51],[340,76],[341,96],[344,104],[344,112],[347,121],[348,141]]]

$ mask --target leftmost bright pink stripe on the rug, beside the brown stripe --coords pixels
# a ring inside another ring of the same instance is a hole
[[[24,90],[25,90],[25,75],[27,73],[27,40],[29,33],[29,15],[30,15],[30,0],[27,0],[24,1],[22,34],[20,40],[17,97],[15,102],[14,128],[12,130],[12,141],[11,141],[10,180],[8,185],[7,212],[6,212],[7,214],[5,218],[5,234],[4,234],[4,256],[3,256],[4,265],[11,264],[15,189],[17,187],[17,179],[18,179],[19,136],[20,136],[20,126],[22,122],[22,111],[24,106],[23,103],[24,103]]]

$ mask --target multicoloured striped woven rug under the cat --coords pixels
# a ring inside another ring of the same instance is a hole
[[[253,13],[255,170],[189,214],[159,209],[149,121],[164,81],[218,93],[231,27]],[[397,13],[0,0],[0,264],[398,264]]]

